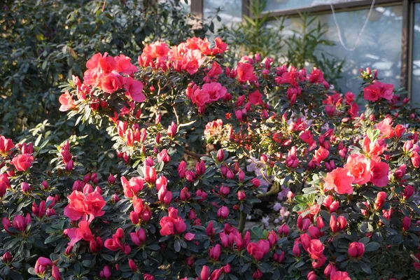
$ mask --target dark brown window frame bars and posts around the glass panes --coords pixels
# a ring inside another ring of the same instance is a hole
[[[211,1],[211,0],[207,0]],[[242,0],[242,15],[250,15],[249,5],[252,0]],[[414,3],[419,0],[376,0],[376,6],[402,6],[402,34],[401,34],[401,73],[400,86],[405,87],[411,97],[412,92],[412,50],[413,50],[413,17],[414,17]],[[372,0],[360,0],[344,3],[332,4],[337,13],[350,10],[360,10],[362,8],[369,8]],[[204,0],[191,0],[191,13],[198,17],[203,17]],[[272,18],[277,17],[298,17],[302,13],[309,13],[311,15],[331,13],[331,7],[327,5],[318,5],[304,8],[294,8],[288,10],[272,10],[268,11]]]

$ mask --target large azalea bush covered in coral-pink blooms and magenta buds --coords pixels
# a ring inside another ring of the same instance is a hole
[[[97,53],[62,85],[59,111],[111,137],[113,174],[87,169],[90,151],[71,139],[0,137],[0,274],[414,279],[420,148],[409,100],[370,69],[360,92],[340,94],[319,69],[258,54],[231,65],[228,51],[220,38],[190,38],[150,43],[136,62]],[[280,200],[271,228],[248,228],[269,197]]]

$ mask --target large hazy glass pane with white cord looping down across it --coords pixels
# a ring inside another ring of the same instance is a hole
[[[336,13],[337,23],[347,48],[355,47],[354,43],[365,23],[368,11],[369,9],[364,9]],[[402,6],[375,8],[353,51],[346,50],[339,42],[332,14],[319,15],[315,22],[318,21],[328,27],[324,38],[335,42],[335,45],[320,46],[320,50],[339,59],[345,59],[343,77],[337,83],[342,92],[358,92],[360,80],[354,77],[358,76],[359,69],[366,67],[378,69],[379,76],[384,78],[385,83],[393,83],[395,87],[400,86]],[[300,29],[301,20],[291,18],[285,23],[286,32],[291,34],[293,33],[291,30]],[[420,55],[418,57],[420,59]]]

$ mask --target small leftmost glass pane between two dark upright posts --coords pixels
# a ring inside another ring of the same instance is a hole
[[[221,22],[214,21],[215,31],[222,25],[230,27],[233,23],[242,20],[242,0],[204,0],[203,5],[204,19],[213,16],[216,8],[221,8],[220,13],[218,13]]]

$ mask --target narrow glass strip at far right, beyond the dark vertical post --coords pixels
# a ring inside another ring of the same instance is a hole
[[[420,3],[414,4],[412,102],[420,104]]]

